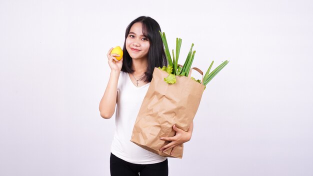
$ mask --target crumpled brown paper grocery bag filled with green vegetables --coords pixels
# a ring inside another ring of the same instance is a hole
[[[203,72],[199,71],[202,76]],[[191,70],[190,70],[191,72]],[[183,145],[164,153],[159,149],[169,143],[160,137],[175,135],[172,126],[187,131],[198,109],[204,85],[186,76],[176,76],[176,83],[164,81],[168,73],[154,68],[152,80],[138,112],[131,140],[135,144],[156,154],[182,158]]]

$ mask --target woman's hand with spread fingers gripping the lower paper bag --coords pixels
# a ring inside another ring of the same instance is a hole
[[[192,126],[190,126],[192,127]],[[189,129],[190,129],[189,127]],[[192,130],[184,131],[175,125],[173,125],[173,129],[176,131],[176,134],[172,137],[161,137],[161,140],[168,140],[170,141],[167,145],[164,145],[163,147],[160,148],[160,151],[165,152],[166,150],[169,150],[173,148],[170,152],[170,155],[172,155],[173,151],[175,148],[180,145],[181,143],[184,143],[186,141],[189,141],[191,138]],[[192,129],[192,128],[191,128]]]

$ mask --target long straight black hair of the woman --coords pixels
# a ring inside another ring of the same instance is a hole
[[[128,36],[130,27],[136,22],[141,22],[142,34],[146,38],[148,38],[148,41],[150,42],[150,47],[148,50],[148,64],[147,64],[146,71],[144,72],[144,76],[141,78],[141,80],[150,82],[152,79],[152,73],[153,73],[154,67],[167,66],[167,60],[165,57],[162,38],[159,34],[159,31],[161,31],[161,28],[159,24],[153,18],[149,16],[139,16],[133,21],[131,21],[126,27],[125,41],[124,41],[124,46],[123,46],[123,64],[121,67],[121,71],[130,72],[130,73],[134,71],[131,68],[132,59],[126,50],[126,38]]]

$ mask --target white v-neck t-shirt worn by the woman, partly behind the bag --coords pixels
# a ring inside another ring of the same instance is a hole
[[[166,159],[166,157],[143,149],[130,141],[133,125],[149,85],[150,83],[147,83],[141,87],[136,87],[131,82],[127,72],[120,72],[115,112],[116,128],[111,152],[130,163],[152,164]]]

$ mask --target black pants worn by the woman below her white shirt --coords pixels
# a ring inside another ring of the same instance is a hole
[[[110,156],[111,176],[167,176],[167,159],[155,164],[133,164],[124,161],[114,154]]]

